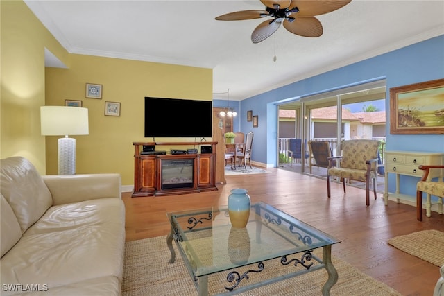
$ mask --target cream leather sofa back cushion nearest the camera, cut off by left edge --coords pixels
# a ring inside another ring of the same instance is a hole
[[[11,247],[19,241],[22,237],[22,229],[20,229],[19,221],[15,218],[14,211],[6,201],[6,199],[1,195],[1,238],[0,238],[0,248],[1,256],[3,257],[6,252],[9,251]]]

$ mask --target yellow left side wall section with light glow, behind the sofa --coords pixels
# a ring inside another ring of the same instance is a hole
[[[45,173],[45,138],[40,135],[44,105],[44,48],[69,64],[67,51],[23,1],[0,1],[0,157],[22,155]]]

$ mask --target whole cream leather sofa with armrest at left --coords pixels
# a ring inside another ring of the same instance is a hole
[[[23,157],[0,171],[0,294],[121,295],[120,175],[41,176]]]

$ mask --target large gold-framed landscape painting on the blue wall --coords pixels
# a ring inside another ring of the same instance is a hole
[[[390,89],[391,134],[444,134],[444,79]]]

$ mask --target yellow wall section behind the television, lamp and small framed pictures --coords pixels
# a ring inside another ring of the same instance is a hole
[[[46,105],[68,99],[88,108],[89,135],[74,137],[76,173],[121,173],[123,185],[133,184],[133,141],[152,141],[144,138],[144,97],[212,101],[212,69],[91,55],[71,55],[70,61],[69,69],[46,68]],[[103,85],[102,99],[85,98],[86,83]],[[105,116],[105,101],[121,103],[121,116]],[[46,138],[46,169],[57,173],[58,137]],[[194,138],[156,138],[167,140]]]

